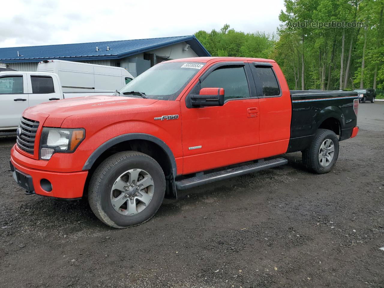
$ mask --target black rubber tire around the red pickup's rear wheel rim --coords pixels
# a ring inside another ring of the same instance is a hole
[[[320,164],[319,161],[319,151],[321,144],[323,144],[326,139],[330,139],[331,141],[333,141],[334,154],[332,161],[328,164],[328,166],[324,167]],[[318,129],[315,133],[314,139],[310,147],[302,151],[303,164],[308,170],[316,174],[324,174],[331,171],[338,159],[338,156],[339,139],[333,131],[328,129]]]

